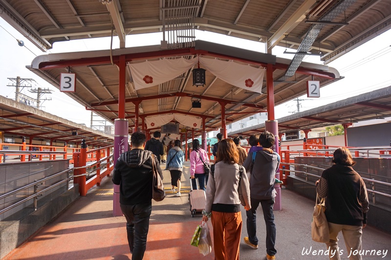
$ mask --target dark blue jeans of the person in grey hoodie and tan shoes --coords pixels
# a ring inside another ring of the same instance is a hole
[[[257,200],[250,198],[251,209],[246,211],[247,215],[247,234],[248,240],[258,245],[257,238],[257,208],[261,203],[263,218],[266,223],[266,253],[269,256],[274,256],[277,250],[274,248],[276,244],[276,224],[274,223],[273,205],[274,198],[269,200]]]

